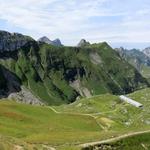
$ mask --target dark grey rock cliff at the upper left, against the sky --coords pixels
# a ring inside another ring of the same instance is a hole
[[[19,33],[0,31],[0,52],[17,50],[31,40],[31,37]]]

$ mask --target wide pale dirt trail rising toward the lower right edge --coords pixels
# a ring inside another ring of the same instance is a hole
[[[110,143],[110,142],[117,141],[117,140],[120,140],[120,139],[123,139],[123,138],[126,138],[126,137],[133,136],[133,135],[149,133],[149,132],[150,132],[150,130],[139,131],[139,132],[131,132],[131,133],[127,133],[127,134],[124,134],[124,135],[121,135],[121,136],[118,136],[118,137],[114,137],[114,138],[110,138],[110,139],[106,139],[106,140],[102,140],[102,141],[84,143],[84,144],[81,144],[79,146],[82,147],[82,148],[86,148],[86,147],[89,147],[89,146],[95,146],[95,145]]]

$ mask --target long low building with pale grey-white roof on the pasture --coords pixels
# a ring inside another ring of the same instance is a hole
[[[127,102],[127,103],[129,103],[129,104],[131,104],[131,105],[133,105],[135,107],[143,107],[143,105],[141,103],[136,102],[136,101],[132,100],[131,98],[128,98],[128,97],[126,97],[124,95],[119,96],[119,98],[122,101],[125,101],[125,102]]]

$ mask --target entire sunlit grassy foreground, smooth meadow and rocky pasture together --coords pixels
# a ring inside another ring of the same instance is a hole
[[[0,134],[19,138],[25,146],[30,146],[29,143],[48,144],[67,150],[76,149],[74,144],[150,129],[150,89],[129,96],[143,103],[143,109],[121,103],[117,96],[110,94],[53,107],[65,112],[58,114],[46,106],[1,101]],[[89,115],[84,115],[87,113]]]

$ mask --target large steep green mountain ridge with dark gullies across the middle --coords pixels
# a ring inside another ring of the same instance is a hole
[[[149,86],[147,80],[106,42],[57,47],[29,40],[14,51],[1,51],[0,64],[4,68],[4,73],[0,74],[1,88],[5,91],[2,94],[11,93],[7,90],[11,80],[17,92],[22,92],[23,86],[49,105],[104,93],[130,93]],[[6,75],[5,70],[9,72]]]

